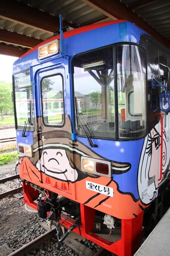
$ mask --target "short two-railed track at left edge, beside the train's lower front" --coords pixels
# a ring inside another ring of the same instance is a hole
[[[18,178],[19,178],[19,174],[0,179],[0,188],[5,191],[5,192],[0,193],[0,198],[4,198],[5,196],[9,196],[9,195],[14,195],[17,198],[23,197],[22,195],[18,195],[18,192],[22,190],[22,187],[19,188]],[[9,180],[13,180],[14,182],[16,182],[17,188],[12,189],[12,188],[6,186],[6,184],[4,184],[5,182],[7,182]]]

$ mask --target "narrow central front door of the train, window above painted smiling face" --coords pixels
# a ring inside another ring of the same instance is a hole
[[[37,74],[41,106],[39,110],[41,115],[37,118],[39,132],[37,168],[41,172],[43,182],[47,182],[50,178],[61,182],[70,180],[69,151],[66,146],[68,142],[64,136],[64,129],[65,134],[67,132],[67,127],[64,125],[65,73],[65,67],[59,66],[49,70],[40,70]]]

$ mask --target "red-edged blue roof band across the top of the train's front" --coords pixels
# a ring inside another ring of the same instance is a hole
[[[100,32],[98,29],[100,29]],[[115,42],[139,43],[141,34],[147,33],[131,22],[126,20],[112,20],[68,30],[63,33],[63,38],[64,44],[66,44],[66,54],[72,57],[80,52],[86,52]],[[14,62],[13,74],[21,70],[26,70],[30,66],[46,62],[47,58],[43,60],[38,59],[38,48],[53,40],[59,39],[60,34],[57,34],[23,54]],[[59,53],[55,55],[55,58],[57,56],[59,56]],[[54,56],[51,58],[54,58]]]

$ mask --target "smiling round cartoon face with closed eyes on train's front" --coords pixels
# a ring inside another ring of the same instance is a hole
[[[66,151],[60,148],[45,149],[36,167],[47,176],[53,176],[66,182],[74,182],[78,177],[77,171],[69,164]]]

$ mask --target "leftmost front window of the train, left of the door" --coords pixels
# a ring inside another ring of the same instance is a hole
[[[29,70],[14,75],[14,90],[16,128],[22,130],[26,127],[25,131],[33,131],[33,88]]]

